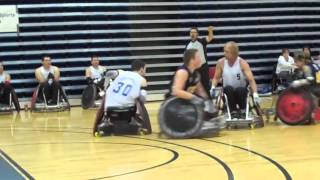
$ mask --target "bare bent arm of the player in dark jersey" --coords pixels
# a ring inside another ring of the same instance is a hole
[[[182,99],[191,100],[193,94],[183,90],[185,83],[188,79],[188,72],[185,70],[178,70],[175,77],[174,82],[172,85],[172,95]]]

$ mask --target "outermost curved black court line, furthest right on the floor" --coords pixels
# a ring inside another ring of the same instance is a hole
[[[210,140],[210,139],[199,139],[199,140],[203,140],[203,141],[208,141],[208,142],[213,142],[213,143],[217,143],[217,144],[222,144],[222,145],[226,145],[226,146],[231,146],[231,147],[234,147],[234,148],[238,148],[238,149],[241,149],[241,150],[244,150],[244,151],[248,151],[252,154],[255,154],[257,156],[260,156],[262,157],[263,159],[269,161],[270,163],[272,163],[273,165],[275,165],[280,171],[281,173],[284,175],[285,179],[286,180],[292,180],[292,177],[290,176],[290,174],[288,173],[288,171],[283,167],[281,166],[278,162],[276,162],[275,160],[261,154],[261,153],[258,153],[256,151],[253,151],[253,150],[250,150],[250,149],[247,149],[247,148],[243,148],[243,147],[240,147],[240,146],[236,146],[236,145],[232,145],[232,144],[228,144],[228,143],[224,143],[224,142],[220,142],[220,141],[215,141],[215,140]]]

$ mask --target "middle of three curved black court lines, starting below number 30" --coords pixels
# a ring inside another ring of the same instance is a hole
[[[192,147],[189,147],[189,146],[185,146],[185,145],[181,145],[181,144],[176,144],[176,143],[172,143],[172,142],[168,142],[168,141],[161,141],[161,140],[156,140],[156,139],[149,139],[149,138],[141,138],[141,137],[134,137],[134,136],[122,136],[122,137],[127,137],[127,138],[135,138],[135,139],[143,139],[143,140],[148,140],[148,141],[154,141],[154,142],[161,142],[161,143],[166,143],[166,144],[172,144],[172,145],[175,145],[175,146],[180,146],[180,147],[183,147],[183,148],[186,148],[186,149],[189,149],[189,150],[193,150],[193,151],[196,151],[198,153],[201,153],[205,156],[208,156],[210,157],[211,159],[214,159],[215,161],[217,161],[223,168],[224,170],[226,171],[227,175],[228,175],[228,180],[234,180],[234,176],[233,176],[233,173],[230,169],[230,167],[224,163],[222,160],[220,160],[219,158],[213,156],[212,154],[209,154],[207,152],[204,152],[204,151],[201,151],[199,149],[196,149],[196,148],[192,148]]]

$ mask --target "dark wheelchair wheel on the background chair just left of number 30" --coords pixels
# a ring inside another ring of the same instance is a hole
[[[97,88],[94,85],[87,86],[82,93],[81,105],[83,109],[93,107],[97,96]]]

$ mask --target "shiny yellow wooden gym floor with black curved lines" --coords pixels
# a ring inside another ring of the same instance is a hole
[[[154,130],[147,136],[93,137],[95,110],[80,107],[1,115],[0,179],[320,179],[319,125],[270,122],[169,140],[157,135],[160,103],[146,106]]]

